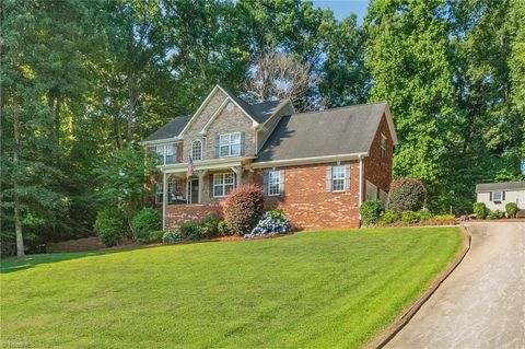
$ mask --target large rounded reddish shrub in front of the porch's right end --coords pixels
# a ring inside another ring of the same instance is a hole
[[[224,218],[234,234],[249,231],[262,214],[264,193],[256,185],[243,185],[228,195],[224,200]]]

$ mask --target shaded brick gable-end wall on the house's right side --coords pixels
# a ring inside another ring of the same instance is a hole
[[[381,135],[386,137],[386,156],[381,158]],[[363,159],[363,176],[383,191],[388,193],[392,182],[392,159],[394,155],[394,142],[388,129],[386,116],[383,115],[380,127],[369,151],[369,156]],[[363,184],[364,190],[364,184]],[[366,193],[363,193],[363,199]]]

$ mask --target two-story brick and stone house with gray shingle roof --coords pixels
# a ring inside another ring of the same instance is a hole
[[[298,229],[359,226],[365,199],[387,202],[397,142],[387,103],[294,112],[217,85],[197,112],[148,137],[162,174],[163,228],[220,213],[234,187],[258,184]]]

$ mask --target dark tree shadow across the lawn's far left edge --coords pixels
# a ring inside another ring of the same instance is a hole
[[[55,254],[37,254],[26,255],[24,257],[10,257],[0,261],[0,274],[15,272],[33,268],[40,264],[57,263],[70,259],[78,259],[83,257],[102,256],[108,254],[116,254],[129,252],[139,248],[148,248],[149,246],[129,246],[119,249],[101,249],[88,252],[70,252],[70,253],[55,253]]]

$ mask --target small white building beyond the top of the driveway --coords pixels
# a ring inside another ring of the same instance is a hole
[[[485,202],[491,211],[505,211],[505,205],[516,202],[525,210],[525,182],[483,183],[476,185],[478,202]]]

